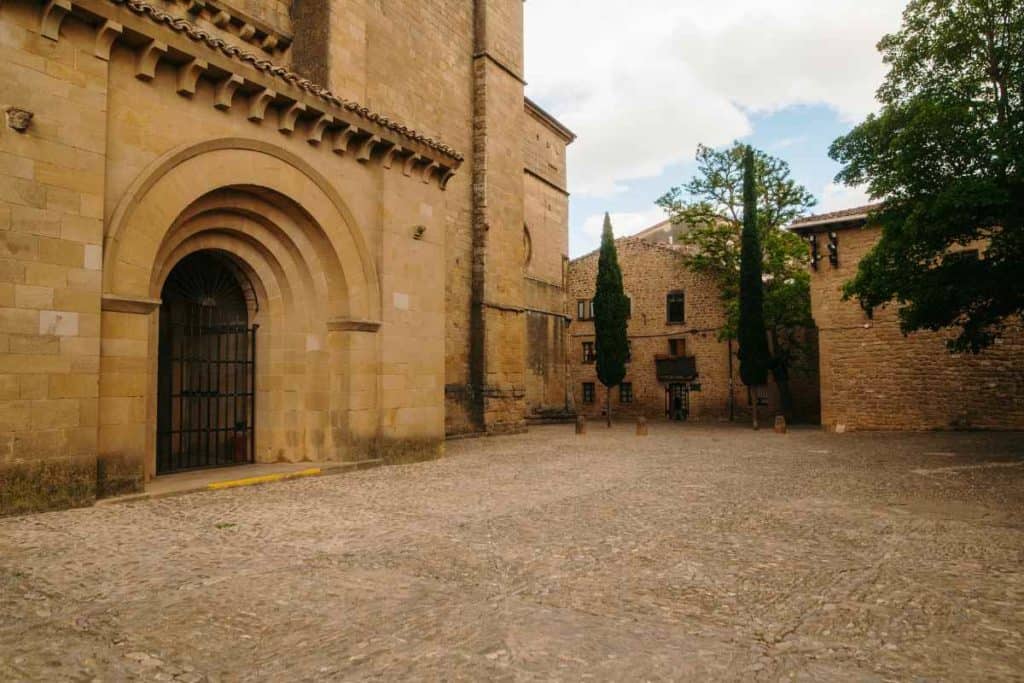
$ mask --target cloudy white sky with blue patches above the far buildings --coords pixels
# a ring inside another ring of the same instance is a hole
[[[878,109],[876,45],[905,0],[531,0],[526,94],[573,130],[569,252],[665,219],[697,144],[734,140],[790,162],[814,212],[858,206],[835,183],[834,139]]]

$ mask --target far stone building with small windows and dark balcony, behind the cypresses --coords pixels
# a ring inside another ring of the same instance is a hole
[[[663,239],[654,226],[641,236],[617,240],[623,285],[630,298],[631,359],[621,387],[612,389],[613,415],[720,421],[746,420],[750,402],[739,380],[735,345],[719,335],[726,314],[715,282],[686,266],[685,252]],[[569,263],[569,367],[579,413],[603,415],[606,390],[594,364],[591,304],[597,280],[598,252]],[[794,378],[796,415],[817,419],[816,378]],[[774,385],[763,397],[765,420],[778,409]]]

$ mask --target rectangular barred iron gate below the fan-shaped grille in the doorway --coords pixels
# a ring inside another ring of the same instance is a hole
[[[157,474],[254,462],[259,326],[161,327]]]

